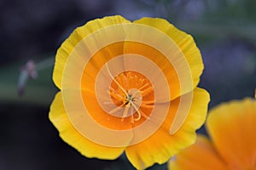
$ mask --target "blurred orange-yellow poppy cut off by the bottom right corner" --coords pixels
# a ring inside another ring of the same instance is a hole
[[[256,169],[256,100],[234,100],[218,105],[207,118],[211,139],[196,143],[169,162],[172,170]]]

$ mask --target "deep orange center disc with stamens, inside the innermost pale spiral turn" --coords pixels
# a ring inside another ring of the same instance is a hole
[[[112,77],[108,70],[110,77]],[[112,102],[116,105],[108,113],[114,113],[124,109],[121,121],[125,117],[131,116],[131,123],[141,120],[142,116],[148,119],[150,112],[154,108],[154,88],[147,77],[137,71],[124,71],[113,78],[108,94]]]

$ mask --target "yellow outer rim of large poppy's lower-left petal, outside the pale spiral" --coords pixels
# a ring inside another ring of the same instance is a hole
[[[79,150],[86,157],[113,160],[124,151],[124,148],[106,147],[85,139],[69,121],[63,105],[61,92],[55,95],[49,111],[49,120],[59,130],[61,139],[67,142],[67,144],[72,145],[76,150]]]

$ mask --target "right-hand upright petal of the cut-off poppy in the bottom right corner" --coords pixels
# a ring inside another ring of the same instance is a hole
[[[210,111],[207,130],[231,169],[256,169],[256,100],[234,100]]]

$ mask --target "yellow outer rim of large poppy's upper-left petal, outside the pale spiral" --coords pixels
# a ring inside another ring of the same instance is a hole
[[[101,20],[91,20],[84,26],[77,28],[70,37],[67,38],[65,42],[61,44],[61,48],[58,49],[55,58],[55,69],[53,73],[53,80],[55,85],[61,89],[61,80],[63,71],[67,62],[69,55],[73,52],[73,48],[78,45],[78,43],[90,35],[90,33],[97,31],[103,27],[113,26],[115,24],[129,23],[129,20],[116,15],[110,17],[104,17]]]

